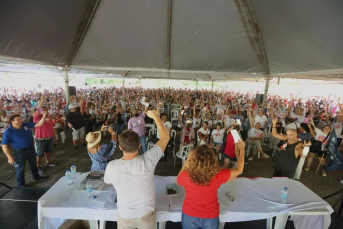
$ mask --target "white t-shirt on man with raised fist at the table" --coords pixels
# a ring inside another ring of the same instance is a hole
[[[117,159],[108,163],[105,183],[112,184],[118,195],[118,214],[138,218],[155,210],[155,167],[162,157],[158,145],[132,160]]]

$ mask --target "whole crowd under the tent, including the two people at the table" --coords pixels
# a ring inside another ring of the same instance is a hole
[[[186,190],[183,228],[217,228],[217,189],[240,175],[255,155],[266,160],[270,149],[278,149],[272,175],[293,179],[300,158],[307,156],[304,147],[310,147],[304,167],[309,171],[314,158],[321,166],[327,163],[332,131],[336,147],[342,142],[343,104],[331,96],[268,95],[265,107],[253,93],[173,88],[93,87],[68,99],[61,88],[20,95],[2,89],[0,97],[2,149],[16,166],[18,186],[25,186],[26,160],[34,180],[42,179],[43,157],[45,166],[55,166],[54,144],[59,133],[71,130],[74,150],[80,141],[90,169],[104,170],[105,182],[116,188],[118,228],[151,228],[156,222],[154,170],[172,158],[168,152],[174,148],[193,148],[177,178]],[[117,145],[123,157],[112,160]],[[320,172],[327,175],[322,167]]]

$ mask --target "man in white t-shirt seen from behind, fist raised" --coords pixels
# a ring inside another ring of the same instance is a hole
[[[148,229],[156,227],[154,170],[169,141],[169,133],[157,111],[149,110],[147,115],[154,119],[160,140],[155,146],[138,155],[139,136],[131,130],[119,135],[121,159],[108,163],[104,181],[117,191],[118,228]]]

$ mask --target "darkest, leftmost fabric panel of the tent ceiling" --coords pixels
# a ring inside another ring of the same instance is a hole
[[[91,0],[2,0],[0,55],[68,62]]]

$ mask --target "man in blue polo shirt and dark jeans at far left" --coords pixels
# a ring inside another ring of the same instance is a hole
[[[33,136],[30,128],[35,128],[43,125],[46,114],[43,114],[38,123],[23,123],[20,115],[11,115],[9,121],[11,125],[5,130],[2,139],[2,150],[7,156],[8,163],[13,165],[14,162],[18,165],[17,183],[19,187],[25,187],[25,163],[29,162],[32,179],[34,181],[42,179],[38,175],[36,164],[36,152],[33,144]],[[12,145],[14,157],[11,155],[9,144]]]

